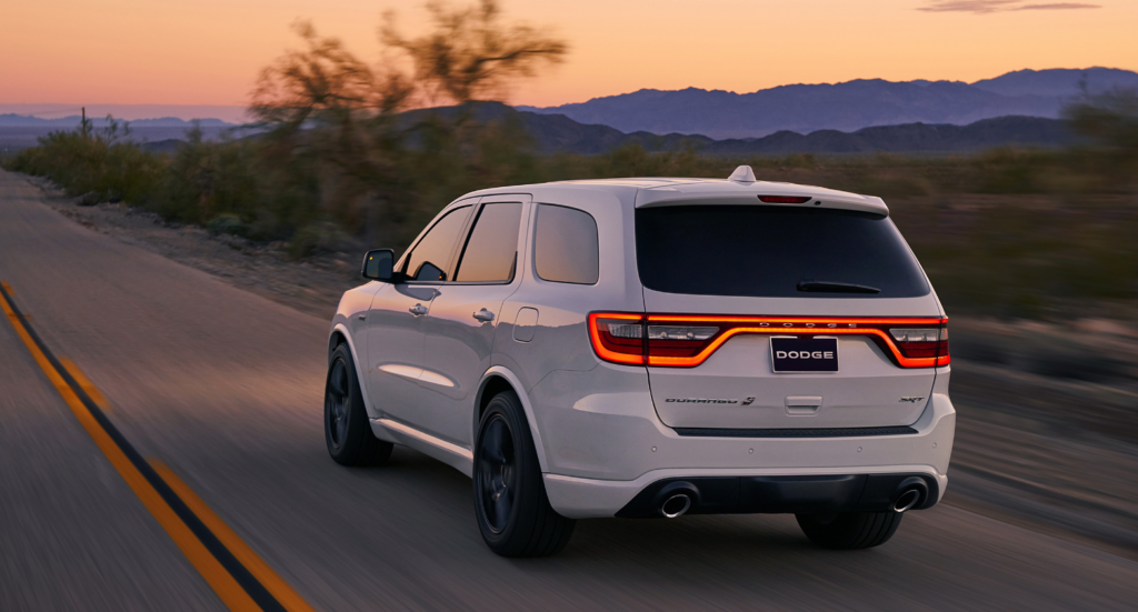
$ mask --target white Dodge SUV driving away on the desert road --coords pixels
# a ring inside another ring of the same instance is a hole
[[[747,166],[487,189],[363,275],[332,320],[329,453],[472,477],[501,555],[685,513],[864,548],[945,494],[948,320],[880,198]]]

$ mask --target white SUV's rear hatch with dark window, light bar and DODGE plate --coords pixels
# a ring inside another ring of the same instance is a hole
[[[908,425],[948,363],[947,320],[884,214],[641,207],[636,259],[652,398],[673,428]]]

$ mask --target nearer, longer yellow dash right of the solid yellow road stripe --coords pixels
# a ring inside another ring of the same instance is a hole
[[[217,536],[217,539],[220,539],[221,543],[229,548],[229,552],[233,553],[233,556],[236,556],[237,560],[249,570],[249,573],[261,581],[266,589],[269,589],[269,593],[272,593],[273,597],[275,597],[286,610],[289,612],[315,612],[313,607],[308,605],[308,602],[305,602],[304,598],[300,597],[300,595],[294,590],[283,578],[273,571],[273,569],[270,568],[263,559],[261,559],[261,555],[255,553],[253,548],[250,548],[249,545],[246,544],[245,540],[241,539],[241,537],[225,523],[225,521],[221,520],[221,516],[215,514],[214,511],[200,497],[198,497],[198,494],[196,494],[189,485],[183,482],[181,478],[178,478],[178,474],[175,474],[168,465],[154,457],[147,457],[147,461],[150,463],[150,466],[154,468],[154,471],[158,472],[158,475],[160,475],[162,479],[170,485],[170,488],[174,489],[174,493],[182,498],[182,502],[184,502],[185,505],[198,515],[198,519],[200,519],[201,522],[209,528],[209,531],[213,531],[214,536]]]

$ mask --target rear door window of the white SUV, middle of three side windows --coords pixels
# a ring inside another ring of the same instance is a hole
[[[518,259],[518,229],[521,204],[487,204],[478,213],[454,280],[505,282],[513,278]]]

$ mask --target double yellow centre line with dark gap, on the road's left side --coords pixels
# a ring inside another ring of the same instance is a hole
[[[0,307],[83,429],[230,610],[313,612],[170,468],[131,446],[107,419],[102,394],[74,364],[52,355],[16,307],[8,283],[0,283]]]

